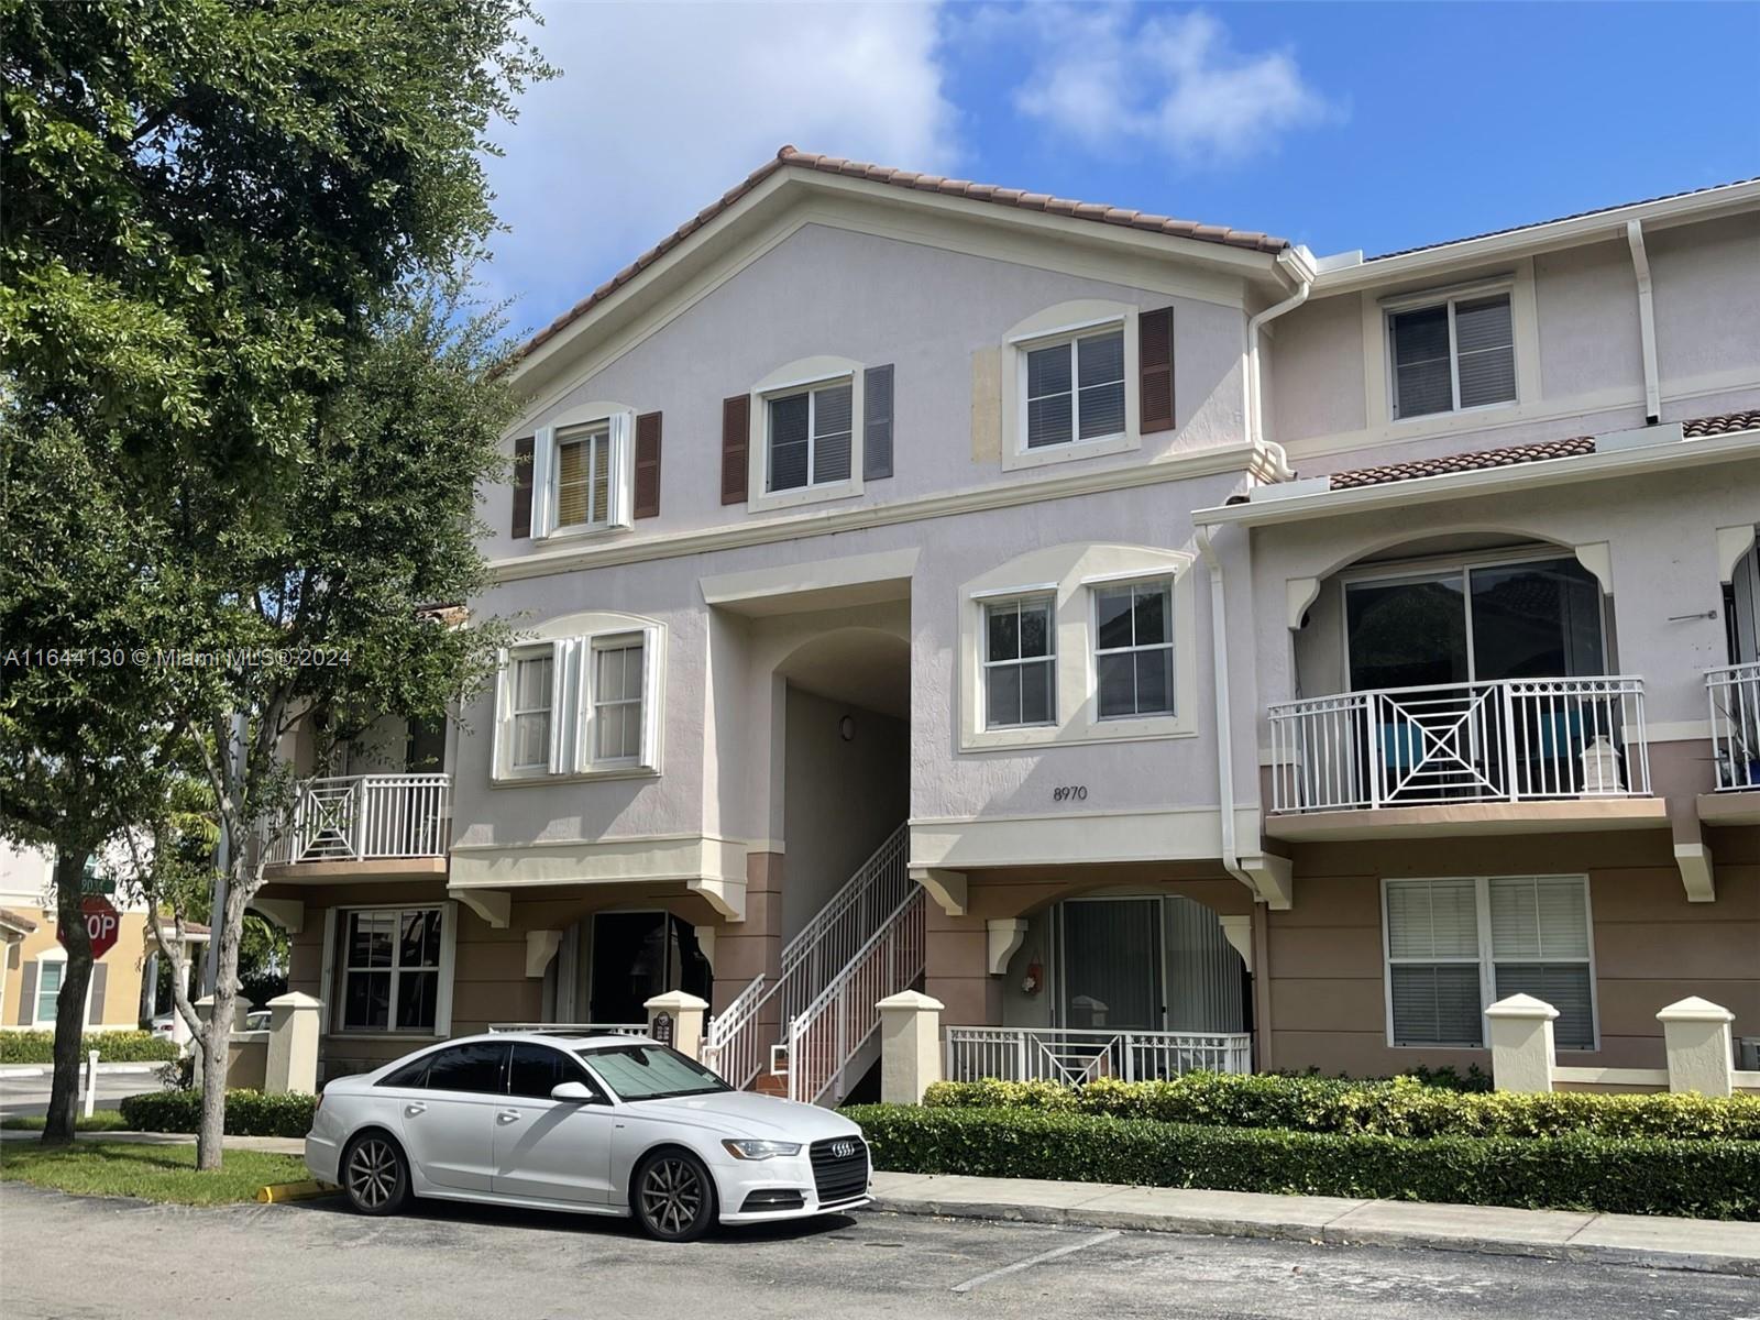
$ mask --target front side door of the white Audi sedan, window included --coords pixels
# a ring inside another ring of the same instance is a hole
[[[602,1096],[560,1049],[514,1042],[507,1100],[495,1114],[495,1190],[604,1206],[611,1200],[614,1111],[609,1104],[551,1100],[560,1082],[584,1082]]]

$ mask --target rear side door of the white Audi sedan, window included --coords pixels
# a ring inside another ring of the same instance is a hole
[[[428,1088],[400,1100],[403,1144],[422,1177],[444,1188],[489,1192],[495,1111],[507,1102],[507,1045],[477,1040],[433,1054]]]

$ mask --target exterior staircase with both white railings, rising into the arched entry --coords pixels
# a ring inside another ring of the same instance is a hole
[[[702,1060],[741,1089],[834,1105],[880,1056],[878,1000],[922,979],[924,894],[899,825],[709,1023]]]

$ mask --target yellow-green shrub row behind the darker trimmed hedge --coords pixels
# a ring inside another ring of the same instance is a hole
[[[1352,1082],[1329,1077],[1188,1072],[1163,1082],[936,1082],[940,1109],[1033,1109],[1148,1118],[1218,1128],[1368,1133],[1382,1137],[1672,1137],[1760,1140],[1760,1096],[1450,1091],[1412,1077]]]

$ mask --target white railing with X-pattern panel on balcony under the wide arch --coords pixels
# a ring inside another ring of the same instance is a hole
[[[1272,811],[1649,796],[1640,678],[1345,692],[1269,715]]]

